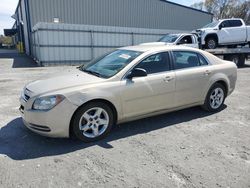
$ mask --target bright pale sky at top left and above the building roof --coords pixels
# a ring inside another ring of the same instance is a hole
[[[201,0],[169,0],[182,5],[190,6],[193,3]],[[3,34],[3,29],[10,29],[14,24],[14,19],[11,16],[14,14],[18,0],[0,0],[0,34]]]

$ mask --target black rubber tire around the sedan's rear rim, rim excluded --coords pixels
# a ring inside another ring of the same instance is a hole
[[[223,93],[224,93],[224,98],[223,98],[223,102],[221,103],[220,107],[219,108],[212,108],[211,105],[210,105],[210,96],[212,94],[212,92],[216,89],[216,88],[221,88],[223,90]],[[215,83],[214,85],[212,85],[212,87],[210,87],[208,93],[207,93],[207,96],[206,96],[206,100],[205,100],[205,103],[203,105],[203,108],[209,112],[217,112],[217,111],[220,111],[224,105],[224,101],[226,99],[226,89],[225,87],[220,84],[220,83]]]

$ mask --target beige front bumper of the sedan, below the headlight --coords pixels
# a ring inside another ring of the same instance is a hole
[[[32,100],[32,99],[31,99]],[[33,110],[31,103],[20,98],[20,112],[24,125],[31,131],[48,137],[69,137],[71,118],[78,106],[66,98],[48,111]]]

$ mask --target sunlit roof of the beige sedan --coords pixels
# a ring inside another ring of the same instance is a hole
[[[168,51],[168,50],[191,50],[191,51],[200,51],[196,48],[191,48],[191,47],[187,47],[187,46],[182,46],[182,45],[159,45],[159,46],[155,46],[155,45],[137,45],[137,46],[126,46],[126,47],[122,47],[119,49],[123,49],[123,50],[132,50],[132,51],[139,51],[139,52],[157,52],[157,51]]]

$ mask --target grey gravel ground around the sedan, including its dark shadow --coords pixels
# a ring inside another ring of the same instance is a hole
[[[250,62],[219,113],[189,108],[85,144],[36,135],[18,112],[25,83],[72,67],[19,61],[0,59],[0,187],[250,187]]]

